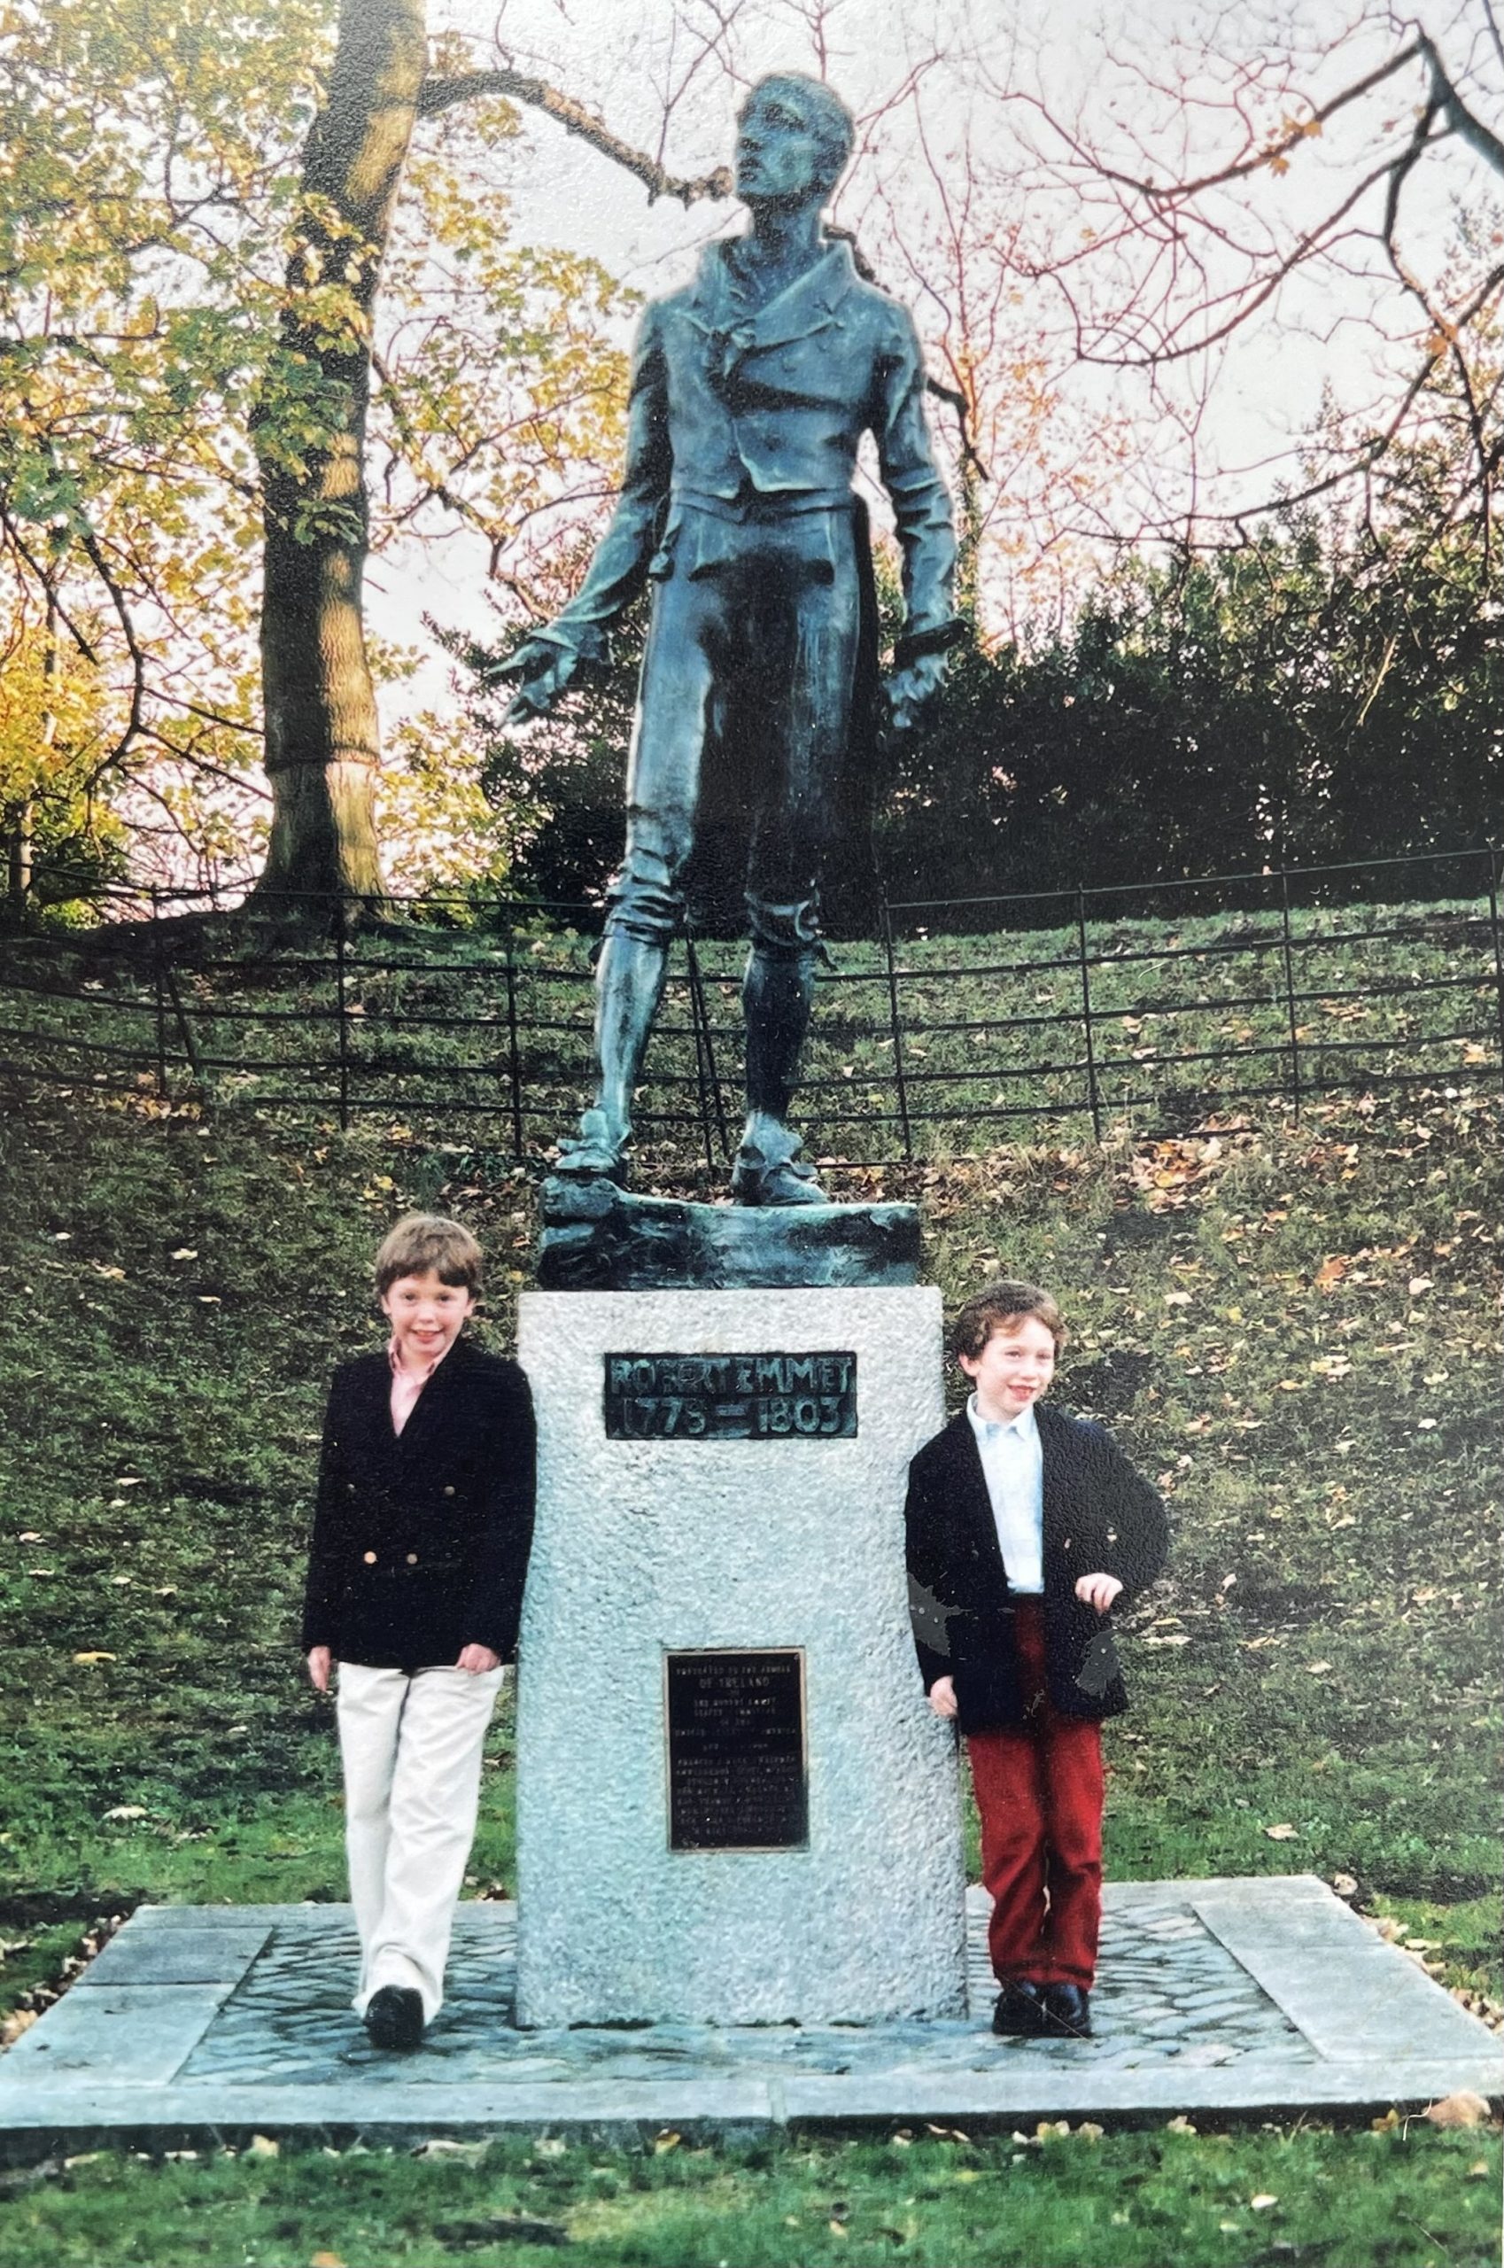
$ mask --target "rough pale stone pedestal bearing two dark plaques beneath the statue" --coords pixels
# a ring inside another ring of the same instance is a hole
[[[916,1286],[522,1297],[522,2025],[964,2012],[903,1569],[939,1327]]]

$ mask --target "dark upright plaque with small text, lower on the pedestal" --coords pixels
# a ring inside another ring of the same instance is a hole
[[[662,1706],[669,1851],[801,1851],[810,1842],[799,1647],[665,1653]]]

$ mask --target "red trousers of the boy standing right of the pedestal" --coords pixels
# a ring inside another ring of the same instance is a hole
[[[971,1785],[982,1814],[987,1930],[1000,1984],[1084,1984],[1096,1975],[1102,1914],[1102,1733],[1064,1717],[1043,1687],[1043,1608],[1014,1610],[1028,1721],[969,1733]]]

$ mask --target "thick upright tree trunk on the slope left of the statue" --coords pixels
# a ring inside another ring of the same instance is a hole
[[[304,150],[281,342],[254,417],[272,841],[259,898],[379,896],[377,694],[361,578],[372,308],[426,73],[424,0],[340,0]]]

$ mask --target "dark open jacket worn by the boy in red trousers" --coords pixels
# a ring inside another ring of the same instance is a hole
[[[1127,1708],[1107,1615],[1082,1606],[1084,1574],[1116,1574],[1121,1601],[1164,1565],[1164,1504],[1112,1433],[1034,1408],[1043,1452],[1043,1633],[1050,1701],[1068,1717]],[[1014,1649],[1014,1608],[987,1497],[982,1454],[966,1411],[910,1465],[905,1506],[910,1613],[926,1692],[955,1678],[962,1733],[1019,1726],[1025,1717]]]

